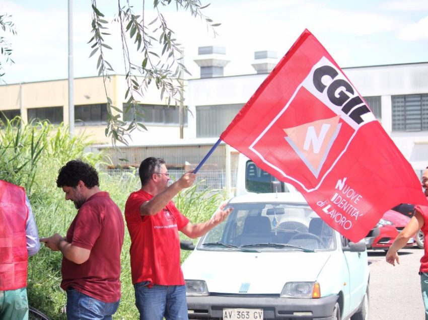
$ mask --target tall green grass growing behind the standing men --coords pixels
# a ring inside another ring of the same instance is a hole
[[[0,123],[0,126],[2,124]],[[0,129],[0,179],[26,188],[41,237],[55,232],[65,235],[76,215],[72,202],[65,201],[63,192],[56,188],[60,167],[70,159],[81,158],[95,168],[105,165],[102,154],[85,152],[91,141],[87,136],[70,137],[66,126],[47,122],[23,124],[19,118],[3,123]],[[140,188],[134,173],[111,177],[100,172],[100,189],[109,192],[113,201],[124,211],[128,195]],[[208,219],[224,199],[221,191],[196,192],[193,186],[175,198],[178,209],[192,223]],[[129,261],[130,238],[125,228],[121,253],[122,297],[115,319],[136,319],[134,290]],[[182,261],[188,252],[182,252]],[[29,258],[28,300],[30,305],[46,313],[52,320],[65,319],[65,292],[61,282],[62,255],[42,247]]]

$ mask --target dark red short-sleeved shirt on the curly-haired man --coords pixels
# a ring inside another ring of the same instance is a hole
[[[122,213],[107,192],[86,200],[68,228],[66,239],[73,246],[91,250],[91,254],[83,264],[62,259],[61,288],[72,286],[104,302],[118,301],[123,235]]]

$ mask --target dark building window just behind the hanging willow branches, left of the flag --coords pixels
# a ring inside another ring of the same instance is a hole
[[[135,110],[130,109],[125,112],[126,104],[123,104],[123,119],[127,122],[134,118]],[[183,112],[183,125],[187,125],[187,109]],[[138,113],[141,113],[139,115]],[[144,116],[142,116],[144,114]],[[155,124],[155,125],[179,125],[180,124],[180,108],[175,106],[163,106],[163,105],[138,105],[137,109],[137,122],[144,124]]]

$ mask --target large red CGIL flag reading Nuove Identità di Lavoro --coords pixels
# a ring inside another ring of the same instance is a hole
[[[426,204],[410,164],[308,30],[220,138],[353,242],[395,205]]]

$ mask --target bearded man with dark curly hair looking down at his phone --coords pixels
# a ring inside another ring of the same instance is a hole
[[[59,170],[56,186],[78,212],[65,237],[55,233],[40,241],[63,255],[61,288],[67,292],[67,319],[111,319],[120,300],[122,213],[99,189],[97,171],[80,160]]]

